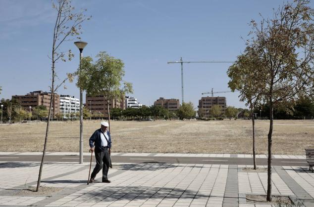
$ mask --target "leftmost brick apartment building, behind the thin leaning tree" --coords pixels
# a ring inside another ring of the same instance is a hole
[[[31,106],[46,106],[47,109],[50,107],[51,93],[43,92],[42,90],[29,92],[26,95],[13,95],[12,99],[16,99],[20,102],[21,106],[25,108],[25,110],[29,110]],[[52,102],[52,111],[53,115],[60,113],[60,96],[58,94],[54,94],[54,101]]]

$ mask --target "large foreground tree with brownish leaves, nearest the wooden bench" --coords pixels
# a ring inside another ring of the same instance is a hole
[[[272,19],[251,22],[251,38],[245,50],[254,57],[250,73],[264,87],[261,100],[269,105],[267,201],[271,201],[271,147],[273,109],[279,103],[294,103],[313,96],[314,10],[309,0],[294,0],[274,10]],[[283,105],[283,104],[281,104]]]

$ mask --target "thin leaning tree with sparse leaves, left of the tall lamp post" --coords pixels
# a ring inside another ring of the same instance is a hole
[[[52,54],[49,57],[52,61],[52,68],[51,68],[51,101],[50,101],[50,107],[48,112],[48,122],[46,127],[46,136],[45,136],[45,143],[44,143],[44,150],[43,150],[43,156],[41,165],[39,168],[39,174],[38,174],[38,181],[37,181],[37,188],[36,191],[39,190],[41,177],[42,177],[42,170],[44,166],[44,159],[46,155],[46,146],[47,146],[47,139],[49,135],[49,126],[50,126],[50,117],[52,112],[52,102],[54,102],[54,94],[55,91],[63,85],[67,80],[72,82],[73,77],[71,74],[67,74],[67,78],[61,81],[60,83],[55,83],[57,81],[57,74],[55,71],[55,65],[58,61],[67,61],[71,60],[74,55],[72,54],[71,50],[68,50],[68,52],[64,52],[61,50],[61,45],[65,41],[71,41],[75,38],[78,38],[78,36],[81,34],[81,23],[86,19],[84,15],[84,11],[86,9],[76,12],[74,10],[74,7],[71,5],[71,0],[53,0],[52,1],[52,8],[56,11],[56,18],[55,23],[53,25],[53,38],[52,38]],[[78,38],[79,39],[79,38]]]

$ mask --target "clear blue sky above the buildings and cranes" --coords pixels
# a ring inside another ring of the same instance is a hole
[[[169,60],[234,61],[245,47],[251,19],[267,17],[282,0],[75,0],[92,19],[83,24],[84,56],[107,51],[125,63],[124,79],[133,83],[140,103],[152,105],[159,97],[181,102],[180,64]],[[311,2],[313,6],[313,2]],[[0,0],[0,98],[34,90],[49,90],[52,30],[55,11],[50,0]],[[73,72],[79,51],[73,42],[65,49],[77,55],[56,66],[60,79]],[[230,63],[185,64],[184,100],[195,107],[202,92],[228,89]],[[58,94],[79,96],[75,83]],[[210,95],[210,94],[209,94]],[[237,93],[227,105],[244,107]],[[85,98],[84,98],[85,100]],[[85,103],[85,101],[84,101]]]

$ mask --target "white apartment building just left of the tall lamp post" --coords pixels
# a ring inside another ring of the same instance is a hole
[[[60,95],[60,113],[71,114],[80,112],[80,100],[70,95]]]

